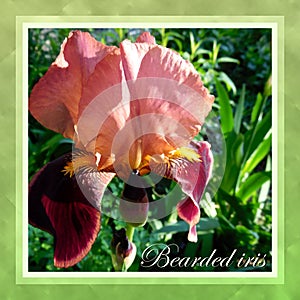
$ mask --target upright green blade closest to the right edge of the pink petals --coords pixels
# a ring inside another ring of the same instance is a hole
[[[226,136],[230,131],[232,131],[234,122],[232,109],[230,106],[230,100],[228,94],[223,87],[223,85],[216,79],[216,88],[220,104],[220,116],[221,116],[221,127],[222,132]]]

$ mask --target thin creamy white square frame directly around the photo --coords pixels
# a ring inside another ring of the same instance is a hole
[[[46,17],[49,19],[50,17]],[[244,17],[242,17],[244,18]],[[247,18],[247,17],[246,17]],[[251,18],[251,17],[249,17]],[[42,19],[38,17],[37,19]],[[67,18],[66,18],[67,19]],[[232,19],[235,19],[233,17]],[[271,272],[29,272],[28,271],[28,29],[31,28],[269,28],[272,30],[272,185],[278,186],[278,23],[276,22],[24,22],[22,26],[22,275],[24,278],[276,278],[278,277],[278,193],[272,194]],[[25,145],[25,146],[24,146]],[[74,281],[72,281],[74,282]]]

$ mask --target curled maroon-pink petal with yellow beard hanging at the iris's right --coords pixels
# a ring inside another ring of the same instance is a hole
[[[211,176],[213,156],[207,142],[191,142],[189,148],[183,149],[182,153],[179,149],[175,157],[171,153],[167,161],[153,157],[150,160],[150,169],[175,180],[188,195],[177,204],[177,211],[179,217],[190,225],[188,240],[196,242],[196,224],[200,219],[199,202]]]

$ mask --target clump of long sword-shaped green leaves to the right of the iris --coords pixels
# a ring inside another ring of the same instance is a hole
[[[228,93],[220,83],[217,83],[217,92],[220,113],[223,107],[228,111]],[[264,247],[267,246],[268,251],[271,249],[271,223],[270,218],[266,217],[270,212],[272,177],[269,164],[266,164],[271,151],[271,112],[264,112],[268,97],[268,94],[258,94],[251,119],[249,122],[245,121],[243,126],[241,116],[245,102],[244,88],[235,111],[235,126],[231,123],[229,126],[228,121],[223,122],[226,117],[222,118],[221,114],[227,145],[227,164],[215,199],[220,206],[218,215],[221,224],[217,241],[222,241],[218,245],[224,253],[230,247],[255,255],[256,249],[261,247],[261,236],[264,237]],[[233,110],[230,109],[230,119],[232,113]]]

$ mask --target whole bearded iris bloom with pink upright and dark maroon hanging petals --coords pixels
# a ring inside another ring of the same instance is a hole
[[[45,165],[29,185],[29,222],[54,236],[55,266],[70,267],[91,249],[114,176],[125,181],[127,198],[146,208],[141,186],[128,192],[132,177],[155,173],[176,181],[187,195],[178,215],[190,225],[188,239],[197,241],[213,158],[210,144],[193,138],[213,101],[192,64],[148,32],[120,48],[70,33],[29,99],[37,121],[74,141],[73,153]],[[141,218],[132,223],[143,223],[147,209],[133,214]]]

